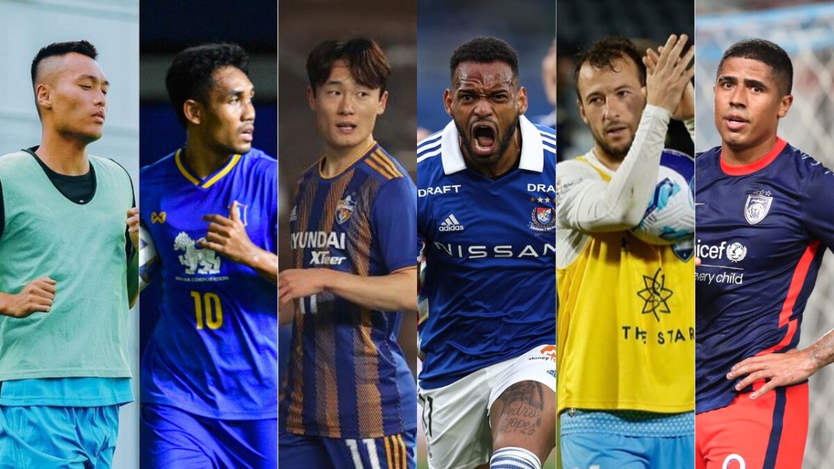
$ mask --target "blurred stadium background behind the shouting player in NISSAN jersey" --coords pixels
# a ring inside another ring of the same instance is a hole
[[[530,106],[525,116],[534,122],[553,113],[542,83],[542,61],[555,38],[555,4],[540,0],[418,0],[417,122],[419,135],[442,130],[451,118],[445,113],[443,92],[450,87],[449,59],[460,44],[476,36],[504,39],[519,54],[520,83]],[[545,79],[553,79],[552,74]],[[413,128],[412,128],[413,129]],[[554,291],[555,295],[555,291]],[[555,323],[554,323],[555,334]],[[418,416],[422,411],[418,409]],[[421,419],[418,419],[421,420]],[[425,436],[418,427],[418,466],[428,467]],[[555,457],[545,468],[555,467]]]

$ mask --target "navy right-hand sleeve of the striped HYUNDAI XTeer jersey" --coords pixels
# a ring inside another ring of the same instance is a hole
[[[371,223],[388,272],[417,265],[417,189],[409,179],[391,179],[379,189]]]

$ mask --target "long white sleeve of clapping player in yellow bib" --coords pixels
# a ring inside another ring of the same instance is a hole
[[[588,178],[578,161],[556,169],[560,223],[585,232],[620,231],[640,223],[655,189],[671,114],[648,105],[628,154],[609,182]],[[588,166],[590,171],[594,169]]]

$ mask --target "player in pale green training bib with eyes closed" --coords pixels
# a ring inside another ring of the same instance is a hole
[[[41,143],[0,158],[3,469],[110,467],[118,406],[133,401],[139,220],[127,171],[87,153],[110,86],[96,56],[87,41],[38,52]]]

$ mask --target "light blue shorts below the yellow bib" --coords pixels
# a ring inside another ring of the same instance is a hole
[[[560,448],[564,469],[694,469],[695,416],[564,411]]]

